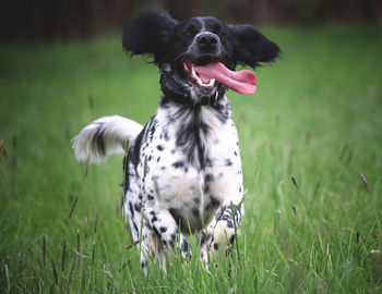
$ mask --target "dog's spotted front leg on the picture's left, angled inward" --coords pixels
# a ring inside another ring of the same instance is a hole
[[[147,209],[148,220],[159,233],[164,245],[170,246],[175,250],[179,250],[184,258],[191,258],[191,249],[183,234],[179,231],[178,223],[171,213],[165,208]]]

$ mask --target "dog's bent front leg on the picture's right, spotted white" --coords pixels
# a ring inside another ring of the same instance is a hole
[[[213,232],[207,247],[213,256],[228,254],[229,247],[235,243],[236,233],[240,233],[239,224],[243,212],[242,203],[235,204],[231,200],[224,201],[216,210],[215,217],[208,225],[208,228],[213,228]]]

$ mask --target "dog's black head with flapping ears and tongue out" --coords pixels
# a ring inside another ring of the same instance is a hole
[[[163,74],[176,82],[171,87],[187,88],[194,100],[225,93],[227,87],[240,94],[254,93],[255,75],[246,70],[235,72],[236,66],[254,69],[279,53],[277,45],[251,25],[225,25],[215,17],[178,22],[156,11],[133,20],[122,41],[132,54],[152,56]]]

